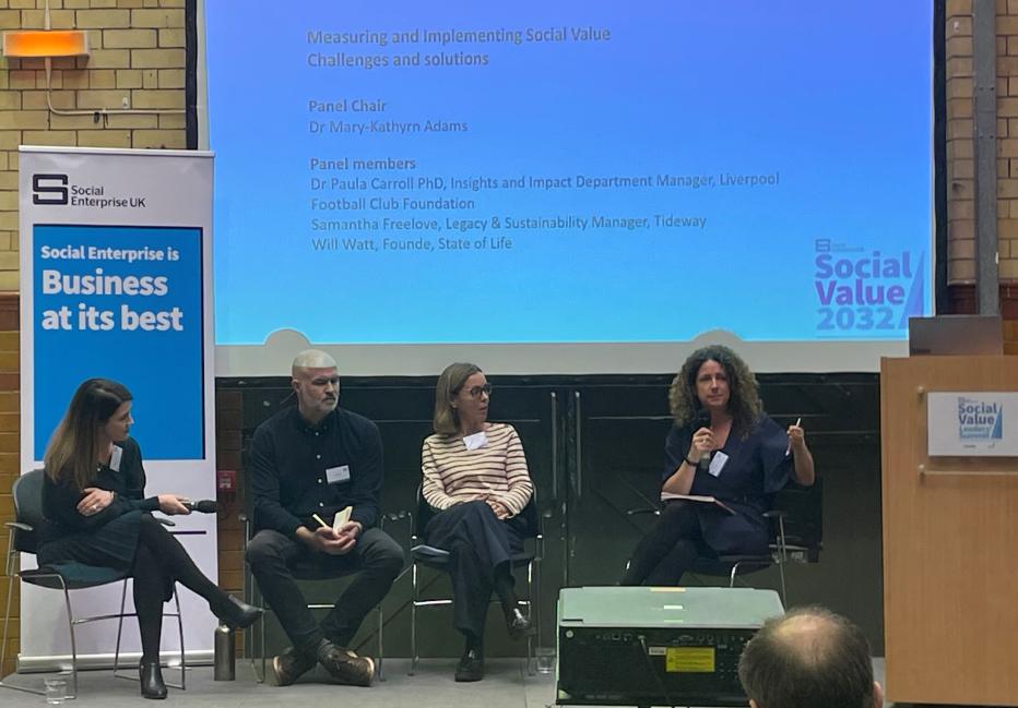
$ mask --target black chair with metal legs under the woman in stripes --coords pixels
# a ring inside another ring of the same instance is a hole
[[[435,515],[435,511],[425,501],[421,488],[417,488],[416,500],[417,515],[411,521],[413,535],[410,537],[411,549],[411,584],[413,589],[413,600],[410,608],[410,675],[414,675],[417,670],[419,656],[417,652],[417,608],[451,605],[452,598],[438,598],[431,600],[421,599],[421,573],[419,567],[427,567],[441,573],[449,569],[449,551],[427,545],[421,541],[424,539],[424,530],[428,521]],[[526,519],[528,528],[533,529],[534,535],[531,548],[524,549],[522,553],[517,553],[510,559],[513,569],[526,568],[526,597],[520,599],[520,604],[526,609],[526,619],[531,621],[534,632],[526,636],[526,665],[529,673],[534,673],[534,646],[533,637],[541,636],[541,611],[537,605],[538,571],[541,559],[544,554],[544,535],[541,529],[541,518],[537,514],[537,489],[534,487],[534,493],[530,502],[520,512],[520,516]],[[530,541],[530,539],[528,539]]]

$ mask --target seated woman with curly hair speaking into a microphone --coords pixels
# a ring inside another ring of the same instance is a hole
[[[772,495],[790,478],[813,484],[803,429],[783,431],[764,413],[756,377],[727,347],[694,351],[668,400],[675,424],[664,444],[665,507],[622,585],[678,585],[698,556],[766,554]],[[675,495],[713,496],[727,508]]]

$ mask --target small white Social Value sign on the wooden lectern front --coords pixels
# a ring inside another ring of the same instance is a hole
[[[926,416],[931,457],[1018,457],[1018,393],[931,393]]]

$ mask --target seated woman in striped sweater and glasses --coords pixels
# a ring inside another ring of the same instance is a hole
[[[421,453],[424,499],[437,513],[425,528],[429,545],[449,551],[453,624],[466,637],[457,681],[484,677],[484,620],[492,590],[510,636],[530,631],[512,589],[509,559],[533,536],[520,513],[534,487],[516,430],[489,423],[492,385],[478,367],[454,363],[438,379],[435,434]]]

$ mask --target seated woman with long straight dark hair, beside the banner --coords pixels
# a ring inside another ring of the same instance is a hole
[[[131,394],[106,379],[82,383],[46,451],[43,511],[50,521],[38,550],[39,565],[62,563],[123,571],[134,578],[141,632],[141,695],[165,698],[159,670],[163,603],[174,583],[209,601],[233,628],[250,626],[262,610],[240,602],[202,575],[184,547],[150,512],[189,514],[175,494],[144,497],[145,469],[128,435]]]

